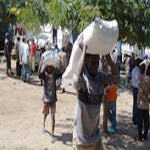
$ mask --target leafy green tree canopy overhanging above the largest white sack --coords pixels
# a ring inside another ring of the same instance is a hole
[[[150,46],[150,1],[146,0],[27,0],[19,21],[35,29],[50,22],[80,33],[96,16],[116,19],[123,42]]]

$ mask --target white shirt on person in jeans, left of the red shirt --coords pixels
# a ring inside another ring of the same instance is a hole
[[[22,43],[21,46],[21,60],[22,64],[28,64],[29,63],[29,46],[27,43]]]

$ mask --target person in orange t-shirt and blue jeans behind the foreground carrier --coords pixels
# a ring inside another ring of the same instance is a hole
[[[107,115],[108,119],[111,122],[109,131],[115,133],[116,129],[116,99],[117,99],[117,87],[116,85],[110,85],[108,87],[108,108]]]

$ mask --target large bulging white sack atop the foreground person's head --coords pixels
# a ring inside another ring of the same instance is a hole
[[[106,55],[114,49],[119,35],[116,20],[105,21],[95,19],[84,31],[83,43],[87,45],[87,53]]]

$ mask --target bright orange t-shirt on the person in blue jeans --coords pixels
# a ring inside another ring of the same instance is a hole
[[[117,88],[115,85],[111,85],[108,88],[108,101],[114,102],[117,99]]]

